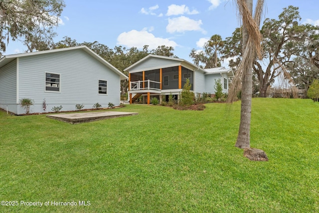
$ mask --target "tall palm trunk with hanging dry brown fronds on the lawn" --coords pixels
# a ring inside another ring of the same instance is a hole
[[[243,59],[233,79],[228,102],[236,100],[238,91],[241,89],[241,116],[235,146],[246,149],[250,148],[252,67],[256,54],[261,58],[262,35],[259,30],[259,25],[264,0],[257,1],[254,17],[252,16],[253,0],[237,0],[236,2],[243,22]]]

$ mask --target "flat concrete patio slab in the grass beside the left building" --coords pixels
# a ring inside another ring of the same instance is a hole
[[[54,115],[46,115],[48,118],[55,120],[71,123],[71,124],[80,124],[85,122],[103,120],[108,118],[124,117],[130,115],[138,115],[139,113],[135,112],[82,112],[82,113],[61,113]]]

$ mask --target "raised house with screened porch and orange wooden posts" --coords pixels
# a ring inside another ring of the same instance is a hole
[[[152,96],[169,94],[178,96],[186,79],[189,79],[191,90],[200,95],[215,94],[215,79],[220,80],[223,92],[228,93],[228,85],[234,76],[231,69],[217,67],[202,69],[180,58],[159,55],[148,55],[124,71],[129,72],[129,100],[133,103],[139,97],[145,97],[150,103]],[[146,102],[146,101],[145,101]]]

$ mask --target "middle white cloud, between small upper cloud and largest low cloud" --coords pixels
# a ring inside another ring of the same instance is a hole
[[[185,16],[177,18],[168,18],[168,25],[166,31],[169,33],[184,32],[184,31],[201,31],[206,34],[206,31],[200,27],[202,25],[201,20],[193,20]]]

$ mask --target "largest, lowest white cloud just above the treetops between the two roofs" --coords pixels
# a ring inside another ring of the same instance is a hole
[[[151,28],[154,29],[154,28]],[[137,31],[135,29],[129,32],[122,32],[117,38],[117,44],[128,47],[143,48],[149,45],[150,49],[156,49],[160,45],[176,47],[177,43],[168,38],[155,37],[154,34],[147,31],[147,28]]]

